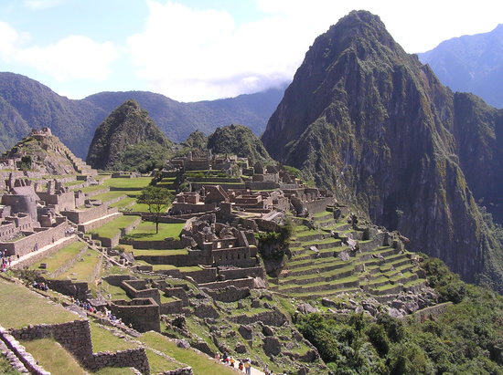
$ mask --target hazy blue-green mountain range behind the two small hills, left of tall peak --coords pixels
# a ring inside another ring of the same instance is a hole
[[[243,124],[260,135],[283,98],[284,87],[236,98],[182,103],[148,91],[101,92],[85,99],[62,97],[34,79],[0,73],[0,151],[33,128],[49,127],[77,156],[85,158],[94,130],[128,99],[137,101],[172,141],[194,130]]]

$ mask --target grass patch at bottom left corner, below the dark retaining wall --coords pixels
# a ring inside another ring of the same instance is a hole
[[[63,349],[54,339],[34,339],[21,341],[38,364],[53,374],[84,375],[86,371],[79,362]]]

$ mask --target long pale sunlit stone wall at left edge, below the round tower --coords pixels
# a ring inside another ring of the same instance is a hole
[[[0,248],[6,249],[7,255],[27,255],[35,249],[40,249],[44,246],[53,244],[60,238],[64,238],[69,228],[70,224],[68,224],[66,220],[61,220],[59,224],[52,227],[35,228],[37,232],[26,233],[26,237],[23,237],[15,242],[0,243]]]

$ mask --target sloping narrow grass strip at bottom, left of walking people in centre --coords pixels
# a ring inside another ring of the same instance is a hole
[[[192,367],[195,374],[204,375],[235,375],[236,371],[231,370],[225,366],[220,365],[213,359],[210,359],[204,354],[199,354],[197,351],[192,349],[182,349],[178,348],[177,344],[173,341],[166,339],[156,332],[146,332],[138,338],[140,341],[144,342],[150,348],[159,350],[165,353],[167,356],[177,359],[177,361],[182,363],[187,363],[188,366]]]

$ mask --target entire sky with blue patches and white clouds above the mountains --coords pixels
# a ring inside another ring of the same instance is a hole
[[[410,53],[503,23],[498,0],[0,0],[1,70],[72,99],[232,97],[293,78],[315,37],[354,8]]]

